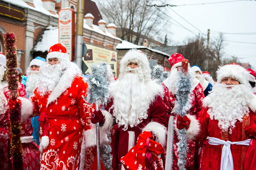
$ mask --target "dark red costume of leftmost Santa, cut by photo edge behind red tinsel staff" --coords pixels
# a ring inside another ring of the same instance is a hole
[[[4,62],[2,62],[4,61]],[[3,54],[0,54],[0,79],[3,78],[6,70],[6,60]],[[23,84],[19,83],[19,96],[26,98],[26,92]],[[9,170],[11,166],[11,131],[9,121],[9,106],[7,101],[9,100],[10,91],[8,86],[3,87],[0,80],[0,169]],[[40,168],[40,154],[39,146],[32,142],[33,128],[31,120],[28,119],[21,123],[21,143],[23,148],[23,169],[39,169]],[[22,166],[22,165],[21,165]]]

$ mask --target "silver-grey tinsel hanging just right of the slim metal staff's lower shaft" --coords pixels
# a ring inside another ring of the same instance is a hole
[[[113,155],[111,154],[112,148],[111,148],[111,133],[110,131],[107,131],[107,138],[109,139],[108,145],[103,145],[101,147],[101,160],[106,170],[111,169],[112,167],[112,159]]]

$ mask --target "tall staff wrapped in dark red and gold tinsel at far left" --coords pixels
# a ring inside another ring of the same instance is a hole
[[[10,90],[10,99],[15,100],[19,97],[18,91],[18,71],[15,69],[18,67],[17,63],[17,53],[16,53],[16,37],[14,33],[5,33],[5,56],[6,56],[6,67],[8,89]],[[11,151],[10,154],[13,159],[12,169],[22,169],[22,145],[21,145],[21,108],[17,104],[17,107],[9,110],[9,119],[10,119],[10,130],[11,130]]]

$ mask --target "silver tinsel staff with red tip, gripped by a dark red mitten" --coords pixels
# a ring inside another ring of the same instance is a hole
[[[182,60],[181,71],[178,71],[178,81],[176,82],[177,87],[177,100],[175,102],[176,108],[175,112],[179,114],[181,117],[184,117],[186,113],[191,108],[191,89],[192,89],[192,82],[191,82],[191,75],[187,74],[188,71],[188,63],[187,59]],[[186,157],[188,151],[188,144],[187,144],[187,130],[186,128],[180,129],[178,131],[178,139],[179,142],[177,143],[178,146],[178,166],[180,170],[186,170]]]

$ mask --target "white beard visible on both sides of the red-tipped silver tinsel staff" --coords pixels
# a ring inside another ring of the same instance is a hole
[[[191,70],[191,68],[188,68],[188,74],[191,75],[191,82],[192,82],[192,86],[194,86],[194,84],[198,84],[197,79],[195,78],[194,74],[195,72],[193,70]],[[171,73],[168,76],[169,78],[169,91],[172,92],[172,94],[176,94],[177,93],[177,88],[176,88],[176,82],[178,81],[178,70],[177,68],[174,68],[171,70]],[[194,90],[194,89],[192,89]]]

